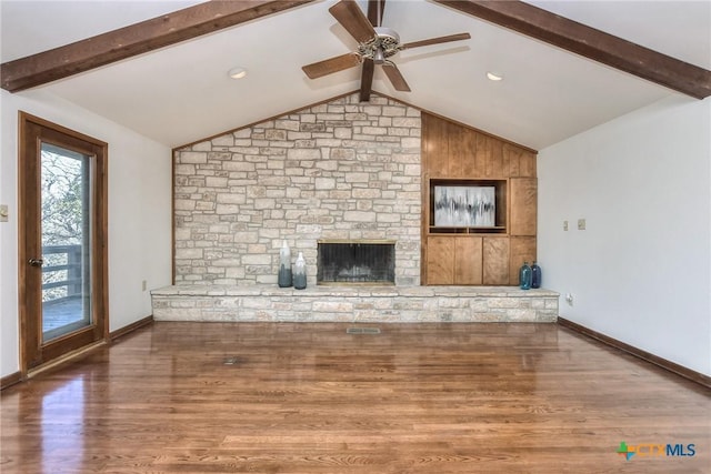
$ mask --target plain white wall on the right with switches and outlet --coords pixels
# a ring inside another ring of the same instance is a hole
[[[711,99],[597,127],[542,150],[538,172],[539,260],[560,315],[711,375]]]

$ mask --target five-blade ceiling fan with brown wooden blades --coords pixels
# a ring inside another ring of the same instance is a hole
[[[309,79],[321,78],[362,63],[360,100],[367,102],[370,100],[374,67],[378,64],[382,67],[395,90],[409,92],[410,87],[390,57],[404,49],[471,38],[469,33],[459,33],[403,44],[395,31],[380,26],[384,4],[385,0],[369,0],[368,17],[353,0],[341,0],[331,7],[329,12],[358,41],[358,50],[302,67]]]

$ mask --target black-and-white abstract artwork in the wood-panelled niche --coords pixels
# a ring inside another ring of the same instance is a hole
[[[497,226],[495,186],[448,184],[433,188],[434,226]]]

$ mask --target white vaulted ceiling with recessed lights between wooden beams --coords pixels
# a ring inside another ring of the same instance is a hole
[[[2,0],[1,59],[196,3]],[[356,47],[328,12],[333,3],[317,1],[41,89],[169,147],[193,142],[357,90],[359,68],[317,80],[301,70]],[[711,0],[531,3],[711,69]],[[472,38],[400,52],[394,61],[412,92],[394,91],[378,68],[374,91],[533,149],[677,94],[425,0],[388,0],[383,26],[403,42],[459,32]],[[234,65],[249,75],[229,79]],[[504,80],[491,82],[487,71]]]

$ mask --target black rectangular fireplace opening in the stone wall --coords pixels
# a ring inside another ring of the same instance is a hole
[[[395,284],[394,241],[319,241],[317,284]]]

